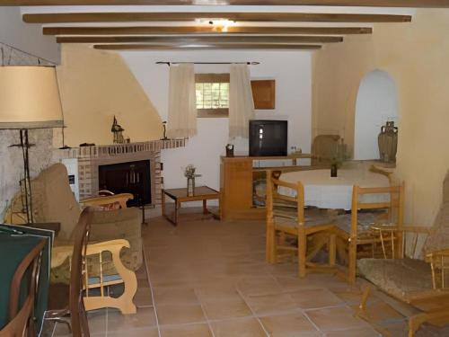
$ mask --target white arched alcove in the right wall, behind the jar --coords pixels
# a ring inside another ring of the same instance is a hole
[[[374,70],[362,79],[357,93],[354,159],[379,159],[377,136],[387,120],[398,122],[398,93],[392,76]]]

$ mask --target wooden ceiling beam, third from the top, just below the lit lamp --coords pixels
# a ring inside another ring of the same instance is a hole
[[[44,35],[179,35],[179,34],[310,34],[347,35],[371,34],[371,27],[228,27],[221,32],[216,27],[44,27]]]

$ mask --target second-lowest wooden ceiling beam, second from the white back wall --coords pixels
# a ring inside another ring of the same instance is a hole
[[[331,43],[342,42],[340,36],[202,36],[202,37],[141,37],[141,36],[79,36],[58,37],[57,43]]]

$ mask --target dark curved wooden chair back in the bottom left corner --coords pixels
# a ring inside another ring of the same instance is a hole
[[[33,324],[34,299],[39,286],[40,259],[47,239],[42,239],[19,264],[13,274],[9,295],[9,323],[0,331],[0,337],[35,336]],[[27,273],[28,271],[28,273]],[[28,295],[19,310],[22,279],[29,275]]]

